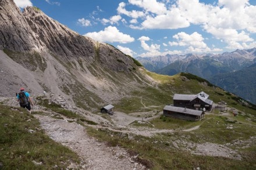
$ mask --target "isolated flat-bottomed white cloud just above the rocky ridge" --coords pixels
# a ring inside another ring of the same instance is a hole
[[[91,37],[100,42],[119,42],[126,44],[134,41],[133,37],[123,34],[118,28],[112,26],[106,27],[104,31],[88,32],[87,34],[84,34],[84,36]]]

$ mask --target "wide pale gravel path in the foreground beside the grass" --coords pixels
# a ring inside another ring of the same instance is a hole
[[[105,143],[90,138],[86,129],[66,120],[56,120],[44,115],[34,115],[47,134],[83,158],[84,169],[145,169],[134,160],[125,149],[108,147]]]

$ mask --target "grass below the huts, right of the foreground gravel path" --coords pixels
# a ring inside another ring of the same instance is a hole
[[[207,114],[204,120],[190,122],[177,120],[161,116],[151,121],[154,128],[174,129],[173,133],[162,133],[151,138],[144,136],[129,135],[122,132],[112,132],[107,129],[88,128],[88,133],[95,138],[106,141],[110,146],[125,147],[130,153],[139,154],[139,161],[150,169],[255,169],[255,144],[247,149],[237,149],[243,156],[243,160],[233,160],[224,157],[210,157],[203,155],[193,155],[173,146],[173,141],[183,140],[191,143],[232,143],[235,140],[248,140],[251,136],[256,136],[256,124],[241,124],[240,117],[224,117],[218,114]],[[134,122],[135,126],[144,126]],[[183,132],[200,125],[199,129],[190,132]],[[226,127],[233,125],[233,129]],[[152,127],[145,125],[147,127]],[[110,137],[111,136],[111,137]],[[182,146],[180,146],[182,147]],[[236,146],[232,147],[236,149]]]

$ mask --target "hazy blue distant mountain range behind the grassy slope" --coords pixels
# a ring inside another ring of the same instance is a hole
[[[226,91],[236,93],[256,103],[255,86],[256,48],[223,54],[187,54],[157,57],[137,57],[145,68],[158,74],[191,73],[205,78]],[[255,87],[254,87],[255,89]]]

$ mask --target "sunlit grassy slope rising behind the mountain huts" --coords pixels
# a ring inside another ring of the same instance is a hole
[[[204,91],[209,95],[209,99],[215,103],[223,100],[229,107],[236,107],[241,111],[250,114],[255,113],[256,106],[251,104],[243,106],[241,97],[237,97],[232,93],[226,92],[218,86],[212,85],[205,79],[197,77],[189,73],[181,73],[173,76],[160,75],[144,70],[145,74],[155,79],[158,84],[148,85],[139,91],[133,91],[129,96],[124,97],[119,103],[116,103],[116,109],[125,113],[133,113],[137,111],[152,111],[159,106],[158,111],[162,111],[165,105],[173,103],[173,95],[175,93],[197,94]]]

